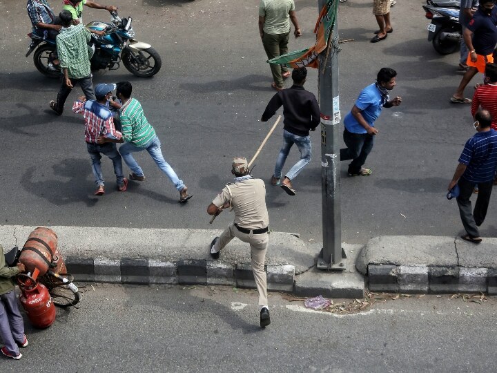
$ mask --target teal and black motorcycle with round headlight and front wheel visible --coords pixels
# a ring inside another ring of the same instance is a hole
[[[142,41],[135,40],[135,31],[131,28],[133,19],[119,18],[117,12],[110,13],[111,23],[92,21],[86,25],[90,30],[104,31],[99,36],[92,33],[92,48],[95,48],[90,64],[91,70],[117,70],[122,64],[137,77],[151,77],[157,74],[162,60],[157,51]],[[40,73],[47,77],[60,77],[61,70],[54,61],[57,59],[55,39],[48,38],[43,31],[30,32],[32,39],[26,57],[36,49],[33,61]]]

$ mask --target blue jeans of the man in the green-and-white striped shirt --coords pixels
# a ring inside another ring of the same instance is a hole
[[[161,171],[167,175],[169,180],[173,182],[173,184],[175,184],[175,188],[178,191],[182,191],[182,189],[185,187],[185,185],[183,184],[183,180],[179,180],[175,171],[173,170],[173,167],[169,166],[168,162],[164,160],[164,155],[162,155],[162,151],[160,150],[159,137],[153,137],[153,139],[147,142],[143,148],[135,146],[130,142],[126,142],[125,144],[119,146],[119,153],[121,153],[124,162],[126,162],[131,171],[133,171],[133,173],[135,173],[135,175],[137,176],[143,176],[144,173],[142,171],[142,168],[135,161],[135,158],[133,158],[133,155],[131,155],[130,153],[136,153],[138,151],[144,150],[148,151],[148,154],[150,154],[150,157],[152,157],[159,169],[161,169]]]

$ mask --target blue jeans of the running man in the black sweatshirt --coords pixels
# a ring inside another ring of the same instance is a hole
[[[286,178],[293,180],[300,171],[302,171],[304,166],[311,162],[311,137],[293,135],[293,133],[283,130],[283,147],[280,150],[280,154],[278,154],[274,173],[274,176],[277,179],[281,178],[284,162],[286,161],[286,157],[288,157],[293,144],[297,145],[298,150],[300,151],[300,160],[286,173]]]

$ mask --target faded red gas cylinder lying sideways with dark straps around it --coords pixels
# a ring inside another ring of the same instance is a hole
[[[23,246],[19,262],[26,266],[26,271],[33,272],[37,268],[39,276],[43,276],[52,267],[52,263],[59,267],[59,273],[66,265],[57,250],[57,234],[52,229],[38,227],[32,231]],[[56,268],[57,268],[56,267]]]

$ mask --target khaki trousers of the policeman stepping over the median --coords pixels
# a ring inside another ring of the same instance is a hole
[[[235,224],[231,224],[224,229],[220,238],[215,243],[215,251],[222,250],[233,238],[238,238],[242,242],[247,242],[251,247],[251,266],[255,279],[255,286],[259,293],[259,305],[268,305],[267,301],[267,278],[264,271],[264,261],[266,260],[267,245],[269,243],[269,234],[253,234],[240,232]]]

